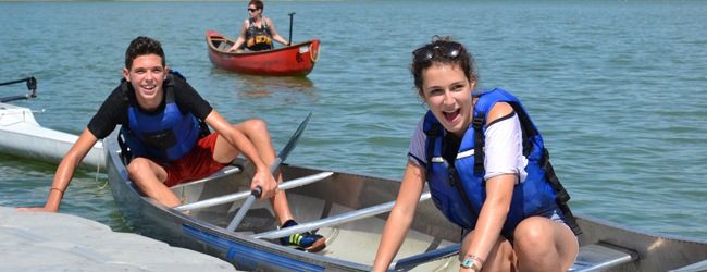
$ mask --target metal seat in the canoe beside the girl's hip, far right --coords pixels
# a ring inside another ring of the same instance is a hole
[[[608,271],[638,259],[638,252],[607,243],[580,247],[576,261],[569,271]]]

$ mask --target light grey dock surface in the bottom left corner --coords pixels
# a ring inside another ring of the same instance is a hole
[[[92,220],[0,207],[0,271],[237,271],[231,263]]]

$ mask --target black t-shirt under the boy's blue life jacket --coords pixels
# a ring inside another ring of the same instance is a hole
[[[207,100],[203,100],[201,96],[199,96],[199,92],[197,92],[191,85],[189,85],[186,81],[174,76],[175,78],[175,84],[174,84],[174,100],[175,103],[177,104],[177,108],[179,108],[179,111],[182,114],[186,114],[187,112],[191,112],[195,118],[200,119],[200,120],[206,120],[206,118],[211,113],[213,108],[211,108],[211,104],[207,102]],[[162,85],[163,91],[166,90],[166,81]],[[133,99],[133,101],[136,101],[135,99],[135,90],[133,89],[133,86],[128,83],[128,97],[129,99]],[[164,96],[166,97],[166,96]],[[158,107],[157,110],[151,112],[151,114],[159,113],[161,111],[164,111],[165,107],[165,101],[164,98],[162,98],[162,103]],[[128,104],[123,100],[123,90],[121,89],[121,86],[119,85],[113,92],[111,92],[110,96],[103,101],[103,104],[101,104],[101,108],[98,109],[98,112],[94,118],[91,119],[90,122],[88,122],[88,131],[96,136],[96,138],[102,139],[108,137],[113,129],[115,129],[116,125],[127,125],[128,123],[128,115],[127,115],[127,109]],[[140,110],[140,112],[145,114],[150,114],[150,112],[145,112]]]

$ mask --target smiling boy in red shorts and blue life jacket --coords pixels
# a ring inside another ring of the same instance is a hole
[[[170,187],[219,172],[243,153],[256,169],[250,189],[262,188],[260,199],[270,199],[281,227],[297,225],[285,191],[277,189],[280,171],[270,173],[276,156],[264,122],[230,124],[184,76],[165,66],[162,45],[148,37],[131,42],[123,77],[62,159],[45,207],[17,211],[57,212],[78,163],[120,124],[132,153],[125,158],[128,177],[158,202],[182,205]],[[324,242],[309,232],[281,238],[286,246],[309,251],[322,250]]]

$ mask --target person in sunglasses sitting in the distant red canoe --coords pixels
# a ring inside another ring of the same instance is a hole
[[[252,0],[248,4],[250,17],[243,22],[240,36],[228,52],[246,50],[260,51],[273,49],[273,40],[285,46],[290,45],[275,32],[275,26],[269,17],[262,16],[263,4],[260,0]]]

